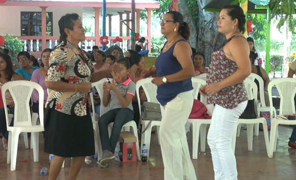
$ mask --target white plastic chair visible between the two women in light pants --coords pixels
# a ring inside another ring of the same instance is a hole
[[[205,80],[199,78],[191,78],[193,85],[193,97],[197,99],[199,88],[206,85]],[[207,104],[207,99],[205,96],[200,95],[200,101],[203,104]],[[212,106],[214,106],[212,104]],[[211,124],[211,119],[188,119],[187,122],[192,124],[192,159],[197,159],[198,154],[198,142],[199,142],[199,132],[200,132],[200,151],[205,152],[206,149],[206,131],[207,125]]]

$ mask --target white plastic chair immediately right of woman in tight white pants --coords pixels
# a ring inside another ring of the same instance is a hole
[[[268,155],[268,147],[269,147],[269,139],[268,139],[268,130],[267,130],[267,122],[265,120],[264,117],[259,117],[258,116],[258,111],[257,111],[257,85],[255,82],[253,82],[250,79],[246,79],[244,81],[246,90],[247,90],[247,96],[248,96],[248,100],[252,100],[254,99],[254,110],[256,113],[257,118],[255,119],[241,119],[239,118],[237,121],[237,125],[239,124],[247,124],[247,146],[248,146],[248,150],[252,151],[253,150],[253,129],[254,129],[254,124],[257,123],[262,123],[263,124],[263,132],[264,132],[264,139],[265,139],[265,146],[266,146],[266,152]],[[235,150],[235,143],[236,143],[236,132],[234,133],[234,137],[232,140],[232,149],[233,152]]]

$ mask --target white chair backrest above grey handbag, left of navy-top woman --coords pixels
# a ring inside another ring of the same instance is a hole
[[[141,115],[141,101],[140,101],[140,96],[139,96],[139,88],[142,86],[144,89],[144,92],[146,94],[147,97],[147,101],[148,102],[153,102],[153,103],[158,103],[158,100],[156,98],[157,95],[157,85],[153,84],[151,82],[153,78],[145,78],[145,79],[141,79],[139,81],[136,82],[136,96],[138,99],[138,106],[139,106],[139,110],[140,110],[140,115]]]

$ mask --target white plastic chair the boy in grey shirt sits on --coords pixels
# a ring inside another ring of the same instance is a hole
[[[101,99],[101,107],[100,107],[100,116],[102,116],[103,114],[107,113],[109,111],[109,104],[105,107],[103,105],[103,83],[106,82],[107,78],[104,78],[104,79],[101,79],[100,81],[98,82],[93,82],[92,83],[92,87],[96,87],[98,93],[99,93],[99,98]],[[110,81],[113,81],[112,79],[109,79]],[[92,99],[94,100],[94,99]],[[93,103],[93,101],[92,101]],[[113,126],[113,122],[110,123],[108,125],[109,127],[109,136],[110,136],[110,132],[111,132],[111,129],[112,129],[112,126]],[[123,126],[122,126],[123,129],[126,129],[126,128],[132,128],[132,133],[134,136],[136,136],[136,139],[137,139],[137,142],[136,142],[136,149],[137,149],[137,159],[138,161],[141,161],[141,154],[140,154],[140,149],[139,149],[139,141],[138,141],[138,132],[137,132],[137,125],[136,123],[133,121],[133,119],[127,123],[125,123]],[[98,133],[99,133],[99,129],[98,129]],[[99,138],[99,136],[97,136]],[[98,139],[99,141],[99,139]],[[98,147],[99,148],[99,147]],[[101,150],[101,148],[100,148]],[[100,157],[98,157],[98,159],[100,159]]]

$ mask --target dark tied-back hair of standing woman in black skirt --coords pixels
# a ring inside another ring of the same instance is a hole
[[[59,28],[60,28],[60,40],[59,42],[64,42],[64,45],[67,44],[67,34],[65,33],[65,28],[68,28],[70,30],[73,30],[74,28],[74,21],[81,18],[78,14],[72,13],[72,14],[66,14],[62,16],[59,20]]]

